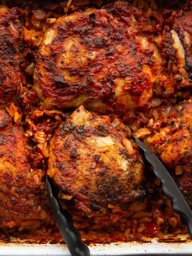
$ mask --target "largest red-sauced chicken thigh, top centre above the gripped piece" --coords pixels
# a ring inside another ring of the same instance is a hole
[[[146,106],[161,57],[142,28],[147,19],[130,3],[58,18],[36,54],[34,84],[45,108],[78,107],[100,113]]]

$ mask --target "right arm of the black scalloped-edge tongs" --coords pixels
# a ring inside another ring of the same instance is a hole
[[[153,165],[156,177],[161,180],[163,191],[171,200],[173,210],[180,215],[181,224],[188,228],[192,239],[192,212],[175,181],[158,159],[158,157],[139,139],[132,136],[137,145],[144,151],[148,162]]]

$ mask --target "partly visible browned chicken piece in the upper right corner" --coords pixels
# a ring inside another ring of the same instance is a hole
[[[165,10],[158,18],[164,26],[155,42],[161,55],[168,56],[168,73],[162,82],[171,93],[173,88],[192,86],[192,2],[178,10]]]

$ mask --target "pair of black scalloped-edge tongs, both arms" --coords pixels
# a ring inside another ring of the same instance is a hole
[[[165,195],[171,199],[173,210],[180,215],[181,224],[187,226],[192,238],[192,212],[178,186],[158,157],[141,140],[134,136],[132,137],[144,151],[148,162],[154,167],[154,173],[161,180]],[[71,215],[59,204],[57,191],[49,180],[48,175],[46,175],[46,186],[53,215],[71,255],[90,256],[89,248],[83,244],[79,231],[73,225]]]

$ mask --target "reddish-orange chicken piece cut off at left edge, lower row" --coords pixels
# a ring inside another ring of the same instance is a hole
[[[25,156],[24,135],[0,110],[0,228],[38,227],[46,218],[40,205],[41,180]]]

